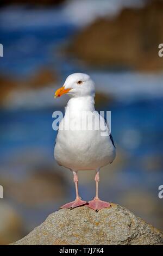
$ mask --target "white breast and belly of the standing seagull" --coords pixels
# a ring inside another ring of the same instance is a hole
[[[69,113],[66,111],[59,125],[54,148],[55,159],[60,165],[73,170],[97,169],[111,163],[115,159],[115,147],[111,142],[109,131],[108,136],[102,136],[102,130],[88,130],[89,126],[86,130],[81,130],[83,114],[79,106],[74,108],[74,103],[73,100],[68,108]],[[93,108],[90,109],[93,111]],[[72,111],[73,115],[70,119]],[[96,115],[99,117],[98,112]],[[105,126],[105,120],[102,117],[101,120]],[[73,130],[62,130],[63,124],[67,122]]]

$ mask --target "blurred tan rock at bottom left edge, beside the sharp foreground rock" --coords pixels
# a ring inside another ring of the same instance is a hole
[[[22,237],[23,225],[17,211],[3,200],[0,204],[0,245],[7,245]]]

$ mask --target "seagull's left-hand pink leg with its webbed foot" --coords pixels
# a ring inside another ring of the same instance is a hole
[[[74,200],[73,202],[70,202],[70,203],[67,203],[63,206],[61,206],[60,208],[68,208],[68,209],[73,209],[73,208],[76,208],[78,206],[82,206],[82,205],[85,205],[87,204],[86,201],[83,201],[80,197],[79,197],[79,191],[78,191],[78,174],[77,172],[74,172],[73,171],[73,181],[74,181],[74,184],[76,186],[76,200]]]

